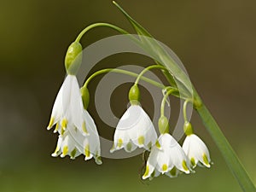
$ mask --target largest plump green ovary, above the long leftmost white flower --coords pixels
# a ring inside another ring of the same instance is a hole
[[[82,45],[79,42],[73,42],[69,45],[65,57],[67,74],[75,75],[79,71],[83,58],[82,49]]]

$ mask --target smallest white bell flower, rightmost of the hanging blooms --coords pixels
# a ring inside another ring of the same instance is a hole
[[[183,143],[183,150],[189,157],[190,164],[194,168],[197,164],[210,167],[210,154],[205,143],[195,134],[187,136]]]

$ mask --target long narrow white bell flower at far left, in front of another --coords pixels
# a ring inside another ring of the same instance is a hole
[[[55,125],[54,132],[59,131],[63,134],[69,126],[78,128],[86,135],[83,110],[78,80],[74,75],[67,75],[55,99],[47,129],[49,130]]]

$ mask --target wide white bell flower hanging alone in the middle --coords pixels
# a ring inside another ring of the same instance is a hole
[[[148,114],[139,105],[131,105],[119,120],[110,152],[121,148],[131,152],[137,147],[149,150],[156,140],[157,134]]]

